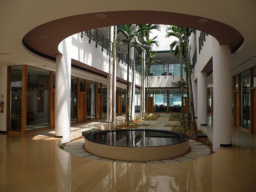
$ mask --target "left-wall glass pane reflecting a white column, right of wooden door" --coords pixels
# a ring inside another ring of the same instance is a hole
[[[81,88],[81,82],[80,82]],[[95,82],[87,80],[87,120],[95,119]]]

